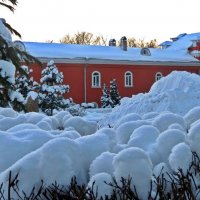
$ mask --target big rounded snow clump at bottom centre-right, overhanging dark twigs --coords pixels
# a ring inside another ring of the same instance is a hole
[[[119,185],[122,177],[132,177],[131,189],[134,191],[135,186],[138,196],[147,199],[152,178],[152,163],[142,149],[131,147],[122,150],[114,157],[113,166],[114,176]]]

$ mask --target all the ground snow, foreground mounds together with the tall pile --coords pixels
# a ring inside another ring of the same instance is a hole
[[[0,183],[6,192],[9,172],[19,173],[18,186],[28,194],[41,180],[68,185],[76,176],[88,186],[95,181],[98,194],[109,195],[112,188],[104,181],[132,176],[139,197],[147,199],[153,174],[162,167],[186,172],[191,151],[200,156],[198,88],[198,75],[173,72],[110,113],[88,110],[73,117],[62,111],[49,117],[0,108]]]

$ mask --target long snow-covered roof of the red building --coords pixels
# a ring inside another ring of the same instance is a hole
[[[60,43],[24,42],[26,51],[38,58],[48,59],[96,59],[114,61],[152,61],[152,62],[198,62],[189,54],[192,40],[200,33],[187,34],[171,43],[167,49],[150,48],[151,56],[141,55],[141,48],[94,46]]]

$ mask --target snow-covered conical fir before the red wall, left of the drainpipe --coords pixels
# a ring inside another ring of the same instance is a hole
[[[69,91],[69,86],[62,84],[63,73],[58,71],[54,61],[50,61],[41,73],[39,107],[47,115],[53,115],[54,110],[62,110],[67,107],[64,94]]]

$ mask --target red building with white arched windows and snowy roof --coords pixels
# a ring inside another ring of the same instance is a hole
[[[102,88],[116,79],[122,97],[148,92],[152,84],[171,71],[200,73],[200,33],[181,34],[160,44],[161,48],[127,48],[111,40],[109,46],[59,43],[19,42],[16,45],[42,61],[44,67],[54,60],[70,86],[67,97],[74,102],[100,103]],[[39,82],[41,66],[33,65],[33,76]]]

